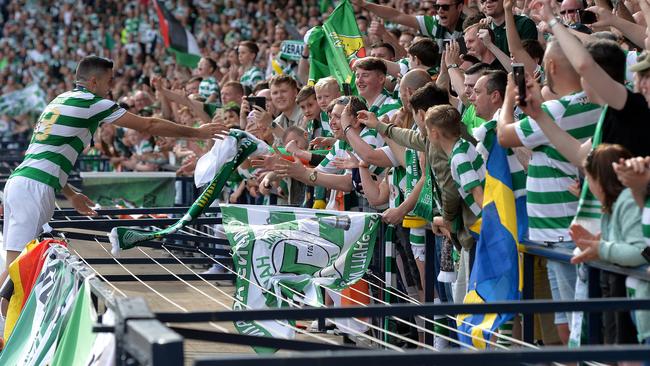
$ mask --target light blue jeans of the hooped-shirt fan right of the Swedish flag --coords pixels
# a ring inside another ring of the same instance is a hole
[[[566,248],[573,250],[575,243],[564,241],[547,243],[551,248]],[[548,282],[551,286],[553,300],[574,300],[577,279],[577,267],[571,263],[561,263],[548,260],[546,263]],[[570,324],[571,312],[555,313],[555,324]]]

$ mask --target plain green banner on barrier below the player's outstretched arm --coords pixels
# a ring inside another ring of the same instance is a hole
[[[174,172],[82,172],[81,179],[84,194],[102,206],[174,206]]]

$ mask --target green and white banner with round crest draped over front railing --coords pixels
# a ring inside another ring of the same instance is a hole
[[[363,212],[248,205],[221,205],[221,212],[237,271],[233,309],[323,306],[319,286],[342,290],[366,272],[380,226],[379,214]],[[292,338],[282,323],[242,320],[235,327]]]

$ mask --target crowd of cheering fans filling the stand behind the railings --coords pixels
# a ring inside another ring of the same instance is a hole
[[[128,110],[222,123],[277,148],[241,165],[222,202],[383,212],[398,228],[400,277],[413,296],[421,294],[425,250],[435,249],[436,301],[463,300],[496,143],[509,148],[515,196],[526,195],[529,239],[580,249],[573,264],[535,263],[536,296],[574,299],[577,263],[650,260],[647,0],[354,0],[370,55],[354,64],[358,96],[342,96],[331,77],[308,85],[308,47],[300,61],[277,58],[282,41],[303,40],[331,6],[321,13],[315,0],[163,3],[196,35],[203,58],[195,70],[167,53],[147,1],[9,1],[3,93],[37,82],[52,99],[73,88],[80,57],[110,57],[113,97]],[[513,63],[523,64],[525,95],[509,75]],[[86,154],[109,158],[118,171],[173,167],[191,176],[210,147],[105,124]],[[585,179],[602,205],[600,227],[574,223]],[[422,197],[431,192],[427,206]],[[425,248],[426,225],[435,248]],[[604,297],[650,296],[647,282],[606,271],[601,287]],[[572,316],[541,316],[536,339],[567,344],[579,331]],[[605,343],[650,341],[648,312],[606,313],[603,322]]]

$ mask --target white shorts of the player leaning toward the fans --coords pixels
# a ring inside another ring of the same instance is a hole
[[[43,232],[54,213],[54,188],[25,177],[7,181],[4,191],[2,248],[22,252]]]

